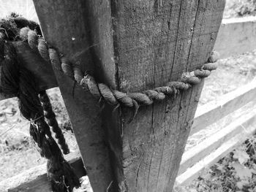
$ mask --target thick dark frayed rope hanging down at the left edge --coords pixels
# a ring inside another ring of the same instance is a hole
[[[30,121],[29,132],[42,157],[47,158],[48,180],[54,192],[71,192],[80,185],[78,177],[72,167],[64,159],[59,146],[53,139],[50,127],[45,122],[43,107],[47,99],[41,93],[42,104],[39,100],[39,88],[33,74],[25,69],[18,61],[17,53],[12,41],[19,38],[13,18],[0,20],[0,66],[1,88],[4,93],[17,95],[20,112]],[[33,39],[32,39],[33,40]],[[52,112],[50,105],[44,105],[46,112]],[[51,110],[51,111],[50,111]],[[54,122],[55,115],[46,115]],[[54,122],[56,123],[56,122]],[[55,125],[56,126],[56,125]],[[61,135],[58,132],[58,135]]]

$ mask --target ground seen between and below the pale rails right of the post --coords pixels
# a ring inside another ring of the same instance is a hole
[[[219,61],[219,68],[208,79],[200,98],[200,104],[206,104],[218,96],[224,95],[256,79],[256,51]],[[244,107],[246,108],[246,107]],[[243,109],[244,110],[244,109]],[[246,110],[244,111],[246,112]],[[185,150],[219,131],[225,125],[238,118],[230,114],[218,123],[189,137]],[[176,186],[176,192],[256,192],[256,137],[247,138],[243,145],[222,158],[200,174],[187,186]]]

